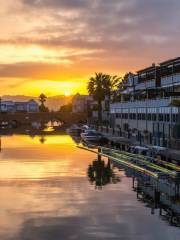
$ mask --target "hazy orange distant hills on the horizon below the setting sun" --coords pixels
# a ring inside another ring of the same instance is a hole
[[[46,106],[50,110],[59,110],[61,106],[66,105],[72,101],[73,96],[63,96],[63,95],[58,95],[58,96],[52,96],[48,97],[46,101]],[[32,96],[24,96],[24,95],[4,95],[2,96],[2,100],[7,100],[7,101],[28,101],[30,99],[34,99],[38,102],[38,97],[32,97]]]

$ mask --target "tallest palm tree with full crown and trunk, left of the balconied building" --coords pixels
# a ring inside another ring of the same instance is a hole
[[[94,77],[91,77],[88,82],[88,92],[93,95],[94,100],[98,102],[98,123],[102,123],[102,101],[105,97],[104,82],[107,78],[106,74],[95,73]]]

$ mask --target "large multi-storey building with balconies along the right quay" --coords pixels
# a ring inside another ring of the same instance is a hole
[[[180,148],[180,58],[129,74],[110,106],[111,125],[142,144]]]

